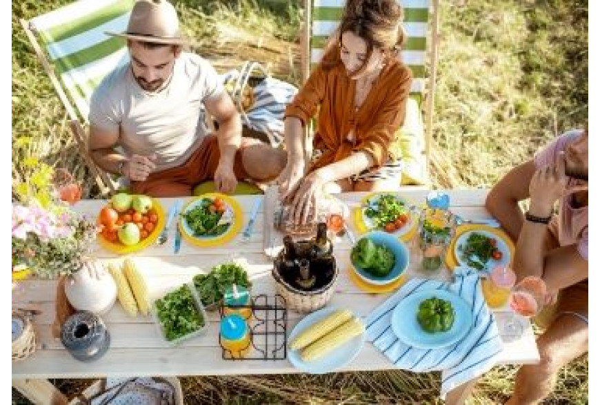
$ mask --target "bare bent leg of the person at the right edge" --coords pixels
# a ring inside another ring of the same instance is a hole
[[[561,314],[538,338],[537,346],[540,363],[519,369],[506,404],[538,404],[550,395],[560,368],[588,351],[588,324],[572,314]]]

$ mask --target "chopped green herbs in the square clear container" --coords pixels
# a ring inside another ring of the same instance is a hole
[[[154,301],[154,305],[163,333],[169,342],[194,333],[204,326],[205,320],[196,307],[190,287],[186,284]]]

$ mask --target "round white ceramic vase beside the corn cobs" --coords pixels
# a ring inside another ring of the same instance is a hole
[[[117,285],[110,273],[101,266],[86,264],[67,278],[65,293],[74,309],[102,315],[114,305]]]

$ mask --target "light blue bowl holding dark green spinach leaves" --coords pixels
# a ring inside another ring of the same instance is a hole
[[[396,262],[394,263],[394,267],[392,268],[392,271],[390,271],[388,276],[375,277],[371,273],[368,273],[368,271],[360,267],[356,262],[354,262],[354,260],[352,260],[352,250],[350,250],[350,261],[352,262],[352,266],[354,266],[354,269],[356,269],[357,274],[360,278],[362,278],[370,284],[386,285],[398,280],[398,278],[402,276],[404,271],[408,269],[408,257],[410,256],[410,253],[408,252],[408,248],[406,247],[406,245],[404,245],[404,242],[399,240],[397,236],[386,232],[372,231],[369,233],[365,233],[362,236],[362,238],[369,238],[375,245],[383,245],[390,249],[390,251],[394,253]]]

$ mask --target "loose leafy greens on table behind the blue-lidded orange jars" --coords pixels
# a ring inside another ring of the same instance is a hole
[[[246,288],[251,285],[246,270],[233,262],[219,264],[208,274],[197,274],[193,282],[202,304],[206,306],[221,301],[225,289],[232,284]]]

